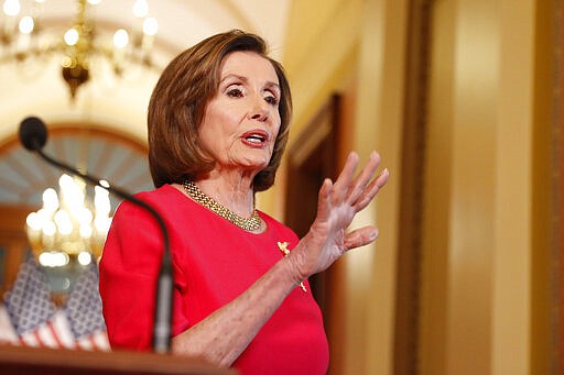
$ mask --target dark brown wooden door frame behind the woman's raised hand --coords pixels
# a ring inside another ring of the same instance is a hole
[[[338,173],[336,166],[340,163],[339,150],[344,140],[340,130],[345,123],[341,102],[339,96],[330,98],[289,150],[285,221],[300,238],[307,233],[315,219],[317,194],[324,178],[335,179]],[[347,108],[350,110],[350,107]],[[347,114],[348,121],[351,121],[350,111]],[[344,372],[344,271],[343,265],[336,262],[327,271],[310,278],[329,341],[329,374]]]

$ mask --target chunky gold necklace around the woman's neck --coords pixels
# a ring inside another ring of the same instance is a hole
[[[229,210],[227,207],[218,203],[212,197],[208,197],[202,191],[194,181],[184,180],[182,183],[182,187],[188,196],[194,199],[196,202],[200,203],[205,208],[214,211],[219,214],[221,218],[226,219],[230,223],[246,230],[249,232],[256,231],[261,225],[261,219],[256,209],[252,210],[252,214],[249,219],[241,218],[234,211]]]

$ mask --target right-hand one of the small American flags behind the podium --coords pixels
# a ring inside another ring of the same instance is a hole
[[[106,323],[101,315],[96,264],[80,274],[64,308],[70,331],[79,348],[109,350]]]

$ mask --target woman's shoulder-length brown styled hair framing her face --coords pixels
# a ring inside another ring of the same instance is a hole
[[[260,36],[231,30],[210,36],[176,56],[156,82],[148,113],[149,166],[155,187],[182,183],[210,172],[215,161],[206,156],[198,126],[209,100],[217,93],[221,63],[232,52],[254,52],[267,58],[276,73],[281,96],[280,130],[269,165],[257,174],[252,188],[262,191],[274,184],[288,143],[292,117],[290,85],[280,63],[267,55]]]

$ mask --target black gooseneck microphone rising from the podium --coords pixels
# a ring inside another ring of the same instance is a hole
[[[164,252],[161,260],[161,269],[159,272],[159,280],[156,285],[155,297],[155,317],[153,326],[153,351],[156,353],[167,353],[171,349],[171,318],[172,318],[172,304],[173,304],[173,276],[172,276],[172,258],[171,246],[169,240],[169,231],[164,224],[164,220],[147,202],[135,198],[131,194],[106,184],[101,185],[100,179],[95,176],[84,174],[78,169],[58,162],[43,152],[43,146],[47,142],[47,129],[45,123],[36,118],[25,118],[20,123],[20,142],[30,152],[35,152],[48,164],[66,170],[75,176],[79,176],[94,186],[100,186],[116,196],[129,200],[130,202],[143,208],[156,220],[163,235]]]

